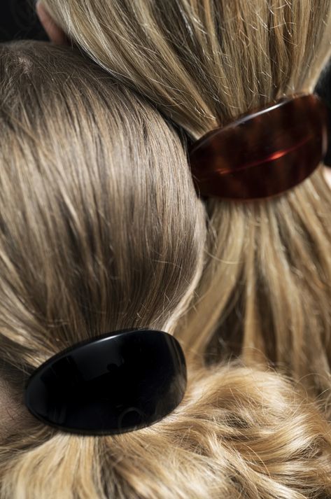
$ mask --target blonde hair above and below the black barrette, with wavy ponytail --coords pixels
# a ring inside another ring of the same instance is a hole
[[[177,133],[83,57],[3,46],[0,81],[1,375],[22,405],[27,376],[64,347],[176,328],[205,212]],[[22,414],[1,440],[1,499],[331,494],[321,413],[300,387],[240,365],[192,367],[183,403],[150,428],[81,437]]]

